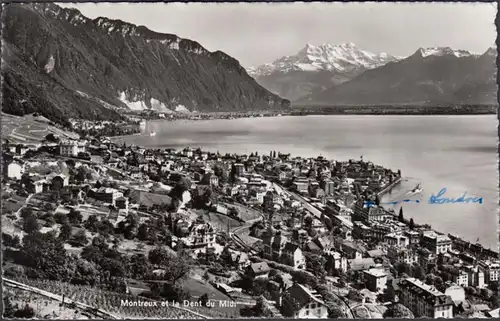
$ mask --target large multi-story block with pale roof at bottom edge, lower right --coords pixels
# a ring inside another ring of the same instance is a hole
[[[435,287],[415,278],[406,278],[399,283],[400,301],[415,317],[453,318],[453,301]]]

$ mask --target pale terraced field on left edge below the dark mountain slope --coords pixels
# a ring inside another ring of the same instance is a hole
[[[59,137],[77,138],[78,135],[49,125],[45,117],[25,115],[23,117],[2,113],[2,137],[12,143],[36,143],[48,134]]]

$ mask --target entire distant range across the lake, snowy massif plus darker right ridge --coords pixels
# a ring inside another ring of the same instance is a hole
[[[436,47],[404,58],[352,43],[306,45],[247,70],[294,105],[496,104],[496,55]]]

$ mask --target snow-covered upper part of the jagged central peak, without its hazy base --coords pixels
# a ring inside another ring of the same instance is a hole
[[[282,57],[273,63],[248,68],[254,77],[268,76],[274,72],[290,71],[337,71],[351,72],[354,69],[373,69],[398,58],[386,53],[372,53],[361,50],[353,43],[341,45],[307,44],[297,54]]]

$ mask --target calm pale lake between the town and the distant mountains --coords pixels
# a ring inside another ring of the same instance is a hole
[[[498,251],[497,116],[306,116],[208,121],[154,121],[148,135],[127,144],[151,148],[202,147],[221,153],[269,154],[372,161],[401,169],[404,181],[382,201],[403,200],[421,183],[419,203],[404,203],[406,218]],[[483,198],[482,204],[428,204],[446,197]],[[401,205],[394,205],[399,211]]]

